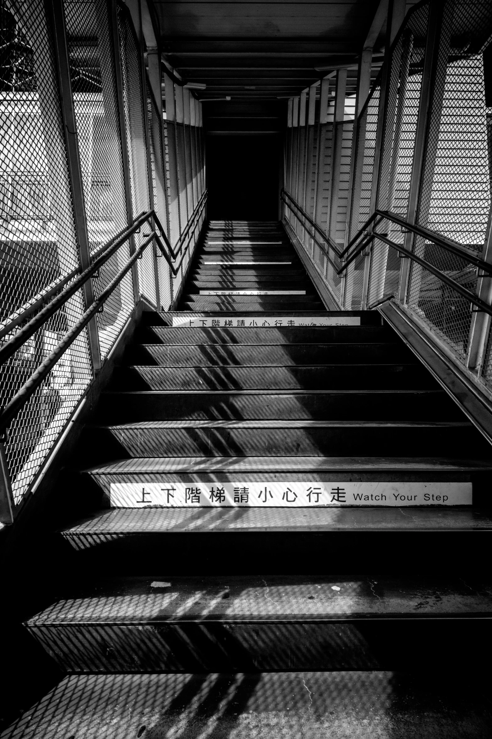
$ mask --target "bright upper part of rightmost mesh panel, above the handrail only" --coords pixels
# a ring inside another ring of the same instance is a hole
[[[446,4],[417,213],[420,225],[479,248],[490,180],[483,57],[473,50],[491,33],[491,16],[488,3]]]

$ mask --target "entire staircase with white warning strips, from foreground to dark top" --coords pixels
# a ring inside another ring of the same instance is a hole
[[[80,574],[26,624],[66,677],[2,737],[491,736],[491,448],[279,225],[209,224],[79,455]]]

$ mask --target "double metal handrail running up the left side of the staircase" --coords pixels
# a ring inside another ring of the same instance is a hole
[[[204,192],[204,194],[198,201],[195,211],[193,211],[190,221],[187,224],[187,228],[185,229],[184,234],[181,235],[180,244],[177,251],[174,251],[173,248],[170,246],[169,239],[167,239],[164,229],[162,228],[162,224],[159,221],[159,217],[156,216],[155,212],[151,210],[147,213],[140,214],[140,216],[131,226],[128,226],[124,231],[121,231],[119,234],[117,234],[117,236],[114,236],[109,242],[107,242],[97,251],[96,254],[98,254],[99,256],[97,256],[96,259],[92,260],[90,267],[80,273],[71,285],[64,287],[64,289],[57,296],[55,296],[55,298],[52,299],[46,305],[46,307],[44,307],[44,309],[41,310],[40,313],[38,313],[37,316],[31,319],[24,327],[21,328],[21,330],[15,333],[15,335],[10,338],[10,340],[7,341],[3,347],[0,348],[0,364],[4,364],[4,362],[7,361],[13,354],[15,354],[15,352],[22,346],[22,344],[24,344],[27,339],[30,338],[30,336],[38,331],[41,326],[43,326],[46,321],[51,318],[51,316],[53,316],[56,311],[59,310],[60,307],[64,305],[77,292],[77,290],[80,290],[80,287],[82,287],[82,285],[87,282],[87,280],[91,279],[94,273],[96,273],[97,270],[99,270],[100,267],[105,262],[107,262],[108,259],[110,259],[110,257],[117,251],[117,249],[119,249],[119,247],[122,246],[132,234],[134,234],[136,231],[139,231],[139,228],[141,228],[143,223],[145,223],[146,221],[151,222],[151,219],[154,219],[159,230],[161,231],[161,234],[158,234],[155,230],[153,230],[151,234],[145,235],[146,238],[143,244],[131,255],[130,259],[128,259],[128,262],[125,264],[122,270],[119,271],[117,276],[115,276],[114,279],[111,280],[108,287],[103,290],[99,298],[97,298],[97,300],[95,300],[89,306],[89,308],[85,311],[85,313],[83,313],[82,316],[80,316],[80,319],[77,321],[77,323],[65,334],[65,336],[63,336],[63,338],[61,338],[55,349],[46,357],[46,359],[38,366],[38,368],[35,369],[35,372],[32,373],[30,378],[24,383],[24,385],[18,390],[18,392],[15,393],[10,402],[7,403],[7,405],[4,406],[3,409],[1,409],[0,435],[4,434],[7,426],[9,426],[10,422],[13,420],[13,418],[15,418],[15,415],[17,415],[21,407],[24,406],[24,403],[29,400],[33,392],[35,392],[35,389],[38,388],[38,386],[46,379],[46,377],[49,375],[49,372],[51,372],[53,367],[55,367],[55,364],[58,362],[60,357],[75,341],[77,336],[86,327],[86,325],[89,324],[89,321],[94,318],[98,310],[100,310],[100,307],[102,307],[105,301],[109,298],[114,288],[117,287],[119,282],[121,282],[125,274],[128,273],[129,270],[131,270],[136,260],[139,259],[140,256],[142,256],[142,253],[148,247],[150,242],[153,241],[153,239],[156,240],[156,244],[159,246],[159,250],[167,259],[167,262],[169,263],[173,274],[175,276],[177,275],[177,273],[179,272],[179,268],[181,267],[181,264],[183,262],[184,255],[187,253],[187,250],[190,247],[190,242],[193,238],[193,234],[195,233],[200,223],[200,216],[204,211],[206,202],[207,191]],[[193,222],[195,222],[195,225],[193,226],[193,230],[190,231]],[[183,253],[181,254],[179,265],[175,266],[173,264],[173,259],[171,255],[174,253],[177,256],[182,250],[184,245],[183,236],[184,239],[186,239],[186,237],[188,236],[187,245],[184,248]],[[78,271],[79,270],[74,270],[74,273],[77,274]],[[69,278],[66,277],[63,279],[63,285],[66,284],[67,279]],[[56,287],[57,286],[51,288],[50,292],[55,290]],[[58,290],[59,289],[60,284],[58,285]],[[35,309],[32,308],[31,310],[30,307],[27,310],[32,313],[32,310]]]

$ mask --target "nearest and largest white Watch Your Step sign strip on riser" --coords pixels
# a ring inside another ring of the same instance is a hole
[[[471,505],[471,483],[111,483],[113,508]]]

